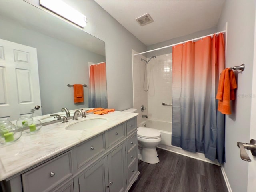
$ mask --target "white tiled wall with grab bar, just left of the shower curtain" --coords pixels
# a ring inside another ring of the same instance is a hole
[[[159,55],[148,63],[148,117],[172,122],[172,54]],[[171,131],[171,130],[170,130]]]

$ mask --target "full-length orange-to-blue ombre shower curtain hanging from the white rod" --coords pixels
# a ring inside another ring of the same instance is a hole
[[[223,33],[173,47],[172,59],[172,145],[224,163],[224,115],[215,99],[225,67]]]

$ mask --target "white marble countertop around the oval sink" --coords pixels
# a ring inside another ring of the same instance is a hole
[[[104,115],[88,114],[77,121],[57,122],[42,126],[36,134],[22,133],[20,139],[12,144],[0,144],[0,181],[18,174],[54,155],[100,134],[126,120],[138,116],[137,113],[115,111]],[[66,130],[74,122],[90,118],[106,118],[100,126],[88,130]]]

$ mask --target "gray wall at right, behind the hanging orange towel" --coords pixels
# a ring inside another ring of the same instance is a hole
[[[233,192],[247,190],[248,162],[240,159],[236,142],[250,142],[254,20],[255,0],[227,0],[218,23],[218,30],[225,30],[228,22],[226,67],[246,65],[244,72],[236,71],[236,101],[226,116],[224,170]]]

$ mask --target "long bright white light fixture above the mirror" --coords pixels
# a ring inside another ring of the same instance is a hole
[[[40,6],[47,8],[82,28],[87,24],[86,16],[61,0],[40,0]]]

